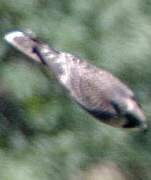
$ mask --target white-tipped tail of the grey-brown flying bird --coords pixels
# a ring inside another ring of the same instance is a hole
[[[51,54],[52,56],[56,55],[58,52],[48,46],[47,44],[41,42],[37,37],[35,37],[31,33],[25,33],[21,31],[13,31],[7,33],[4,39],[16,49],[27,55],[29,58],[37,61],[44,62],[40,54],[38,53],[38,49],[42,49],[45,52]]]

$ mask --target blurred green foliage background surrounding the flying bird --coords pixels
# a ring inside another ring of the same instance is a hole
[[[111,71],[151,117],[150,0],[0,0],[0,180],[151,180],[151,131],[99,123],[3,41],[31,29]]]

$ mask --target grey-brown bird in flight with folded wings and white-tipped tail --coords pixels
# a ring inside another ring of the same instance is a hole
[[[114,127],[146,130],[145,116],[134,93],[110,72],[55,50],[31,33],[13,31],[4,39],[46,65],[70,96],[96,119]]]

